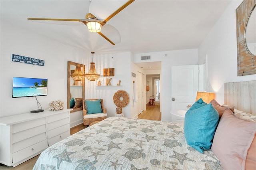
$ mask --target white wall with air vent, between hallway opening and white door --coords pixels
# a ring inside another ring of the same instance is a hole
[[[141,60],[141,56],[151,55],[150,61]],[[134,63],[162,61],[161,79],[161,95],[160,106],[162,111],[162,121],[171,121],[171,71],[173,65],[193,65],[198,63],[197,49],[184,49],[175,51],[161,51],[154,53],[134,54]],[[148,74],[148,73],[147,73]],[[150,73],[153,74],[153,73]],[[156,73],[157,74],[157,73]]]

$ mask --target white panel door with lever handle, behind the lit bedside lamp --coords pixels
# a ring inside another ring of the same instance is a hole
[[[199,88],[199,65],[172,67],[172,110],[186,109],[196,100]]]

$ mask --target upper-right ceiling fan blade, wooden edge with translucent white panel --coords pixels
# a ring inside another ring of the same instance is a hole
[[[98,19],[107,21],[133,1],[134,0],[92,0],[89,6],[89,12]]]

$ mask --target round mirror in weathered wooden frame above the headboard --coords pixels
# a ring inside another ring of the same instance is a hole
[[[256,74],[256,0],[244,0],[236,8],[237,75]]]

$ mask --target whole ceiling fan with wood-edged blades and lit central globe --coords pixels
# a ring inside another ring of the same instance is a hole
[[[105,3],[105,4],[102,4],[102,2]],[[95,5],[92,5],[94,3],[93,0],[90,0],[89,13],[86,14],[85,19],[56,19],[56,18],[27,18],[27,19],[28,20],[37,20],[37,21],[43,21],[43,20],[44,21],[56,21],[56,22],[60,21],[60,22],[64,22],[63,23],[64,25],[68,25],[68,24],[65,23],[66,21],[82,22],[82,23],[84,23],[88,27],[88,31],[89,32],[98,33],[98,34],[100,34],[100,36],[105,38],[112,45],[115,45],[116,43],[121,42],[120,34],[119,34],[118,30],[116,30],[116,28],[114,28],[113,26],[110,26],[110,25],[108,25],[106,23],[111,18],[113,18],[116,14],[118,14],[120,11],[122,11],[124,8],[126,8],[128,5],[130,5],[132,2],[134,2],[134,0],[128,0],[125,4],[120,6],[117,10],[115,10],[112,14],[110,14],[105,19],[96,18],[96,16],[94,16],[92,13],[93,12],[99,13],[97,11],[102,12],[104,9],[106,10],[106,6],[105,5],[106,5],[107,1],[105,1],[105,2],[101,1],[101,2],[98,2],[98,3],[95,2]],[[116,2],[114,2],[114,3],[116,3]],[[92,13],[90,13],[90,12],[92,12]],[[104,15],[102,15],[102,16],[104,17]],[[113,38],[114,37],[118,37],[116,39],[116,42],[114,43],[113,40],[110,40],[106,36],[106,34],[108,34],[108,36],[112,36]]]

